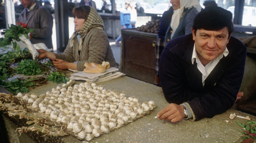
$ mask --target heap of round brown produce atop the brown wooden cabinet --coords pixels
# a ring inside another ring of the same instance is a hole
[[[146,25],[137,27],[136,30],[142,31],[142,32],[158,34],[159,26],[160,26],[160,19],[157,19],[157,20],[152,20],[152,21],[147,22]]]

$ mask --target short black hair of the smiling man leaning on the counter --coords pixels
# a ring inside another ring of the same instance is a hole
[[[224,8],[208,6],[201,10],[194,19],[192,28],[205,30],[221,30],[224,27],[228,29],[228,38],[234,30],[232,22],[232,13]]]

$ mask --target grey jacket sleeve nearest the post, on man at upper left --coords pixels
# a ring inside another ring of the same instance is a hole
[[[33,28],[32,37],[48,38],[53,34],[53,18],[50,12],[45,8],[40,8],[38,15],[40,17],[39,28]]]

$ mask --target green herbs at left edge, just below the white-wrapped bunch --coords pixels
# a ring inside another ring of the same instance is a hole
[[[32,56],[28,48],[10,50],[8,52],[0,52],[0,61],[8,63],[16,62],[19,59],[31,59]]]

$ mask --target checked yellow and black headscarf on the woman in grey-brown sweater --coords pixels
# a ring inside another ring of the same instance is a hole
[[[104,30],[104,24],[103,24],[103,20],[102,18],[100,17],[100,15],[98,14],[98,12],[92,8],[90,6],[90,13],[87,17],[87,20],[85,21],[84,25],[83,25],[83,28],[81,31],[75,31],[72,36],[71,36],[71,41],[70,41],[70,44],[69,46],[72,47],[74,45],[74,38],[75,36],[77,36],[78,34],[81,35],[80,37],[80,41],[79,41],[79,47],[83,44],[83,37],[84,35],[90,31],[92,28],[99,28],[99,29],[102,29]],[[81,48],[79,48],[81,49]]]

